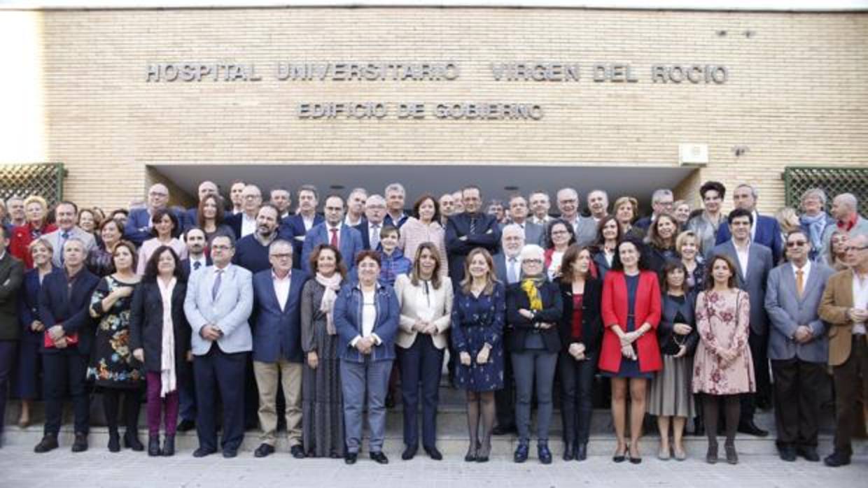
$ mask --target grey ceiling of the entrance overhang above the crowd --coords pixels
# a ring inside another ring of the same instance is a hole
[[[590,190],[606,190],[612,201],[621,195],[632,195],[647,208],[651,192],[656,188],[674,188],[686,178],[691,168],[635,166],[503,166],[503,165],[154,165],[156,171],[190,195],[203,179],[211,179],[227,192],[230,182],[243,179],[268,189],[285,186],[293,191],[299,185],[312,184],[321,193],[346,195],[361,186],[372,193],[381,193],[385,185],[400,182],[407,190],[408,206],[423,193],[441,195],[454,192],[464,185],[482,188],[483,198],[506,198],[513,192],[527,195],[535,190],[555,192],[572,186],[584,197]],[[516,186],[517,190],[507,189]],[[267,198],[267,197],[266,197]],[[553,202],[554,203],[554,202]]]

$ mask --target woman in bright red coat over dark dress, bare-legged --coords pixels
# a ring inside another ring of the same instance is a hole
[[[612,269],[602,286],[604,326],[599,366],[612,378],[612,418],[618,446],[616,463],[624,461],[629,448],[630,462],[641,463],[639,439],[645,417],[648,379],[662,368],[655,329],[660,322],[660,284],[648,270],[645,247],[627,237],[615,249]],[[630,443],[624,439],[627,389],[630,391]]]

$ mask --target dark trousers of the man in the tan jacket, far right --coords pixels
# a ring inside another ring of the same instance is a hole
[[[835,378],[835,452],[851,456],[852,435],[856,430],[859,390],[863,404],[868,403],[868,345],[865,336],[853,336],[850,357],[843,364],[832,368]]]

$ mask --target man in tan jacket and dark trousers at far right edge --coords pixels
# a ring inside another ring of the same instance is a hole
[[[868,237],[850,240],[846,254],[850,269],[829,278],[819,316],[831,324],[829,365],[835,378],[835,452],[824,459],[832,467],[849,465],[851,436],[857,415],[859,390],[868,396]]]

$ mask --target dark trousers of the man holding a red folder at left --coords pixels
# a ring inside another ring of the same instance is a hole
[[[45,434],[57,435],[63,413],[63,397],[69,388],[76,433],[87,434],[90,426],[90,399],[85,383],[88,356],[78,348],[62,348],[43,354],[43,394],[45,397]]]

